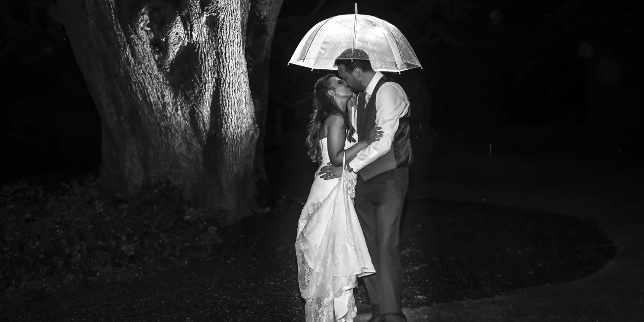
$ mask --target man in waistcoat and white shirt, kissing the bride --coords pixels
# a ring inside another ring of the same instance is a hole
[[[356,56],[368,59],[365,52],[353,49],[339,57]],[[368,60],[336,59],[335,66],[346,85],[359,93],[357,106],[348,111],[357,140],[374,126],[381,126],[384,132],[347,166],[348,171],[357,173],[355,212],[376,272],[365,277],[373,308],[369,322],[407,321],[401,310],[403,270],[398,243],[412,164],[409,99],[397,82],[374,71]],[[325,166],[320,174],[324,179],[339,178],[342,168]]]

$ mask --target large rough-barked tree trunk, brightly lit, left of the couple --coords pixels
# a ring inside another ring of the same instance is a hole
[[[239,0],[61,0],[99,109],[102,178],[169,179],[236,222],[254,204],[259,135]]]

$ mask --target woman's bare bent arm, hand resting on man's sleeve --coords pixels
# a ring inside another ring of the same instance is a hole
[[[327,122],[328,157],[331,159],[331,164],[334,167],[342,166],[343,153],[346,154],[345,164],[348,164],[355,158],[358,152],[369,146],[370,142],[368,140],[361,140],[345,151],[346,128],[344,118],[340,117],[339,115],[330,115]],[[375,138],[374,140],[379,140],[379,138]]]

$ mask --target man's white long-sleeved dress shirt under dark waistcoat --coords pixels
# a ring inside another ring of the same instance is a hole
[[[357,124],[357,109],[366,108],[371,95],[374,93],[374,88],[378,81],[383,77],[380,71],[376,71],[374,78],[369,82],[365,90],[365,106],[356,106],[351,111],[351,122]],[[403,88],[396,82],[386,82],[378,89],[375,97],[375,124],[380,126],[383,131],[383,136],[379,141],[375,141],[368,147],[363,149],[355,156],[354,160],[349,162],[355,173],[360,171],[363,167],[368,166],[377,158],[383,156],[385,153],[392,149],[393,135],[398,130],[399,118],[407,115],[409,111],[409,99]],[[356,129],[357,130],[357,129]],[[357,133],[354,138],[357,142]]]

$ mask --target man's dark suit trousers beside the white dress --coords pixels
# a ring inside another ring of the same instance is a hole
[[[365,181],[358,175],[355,212],[365,234],[375,274],[365,277],[366,292],[379,321],[406,321],[400,223],[409,186],[409,168],[385,171]]]

